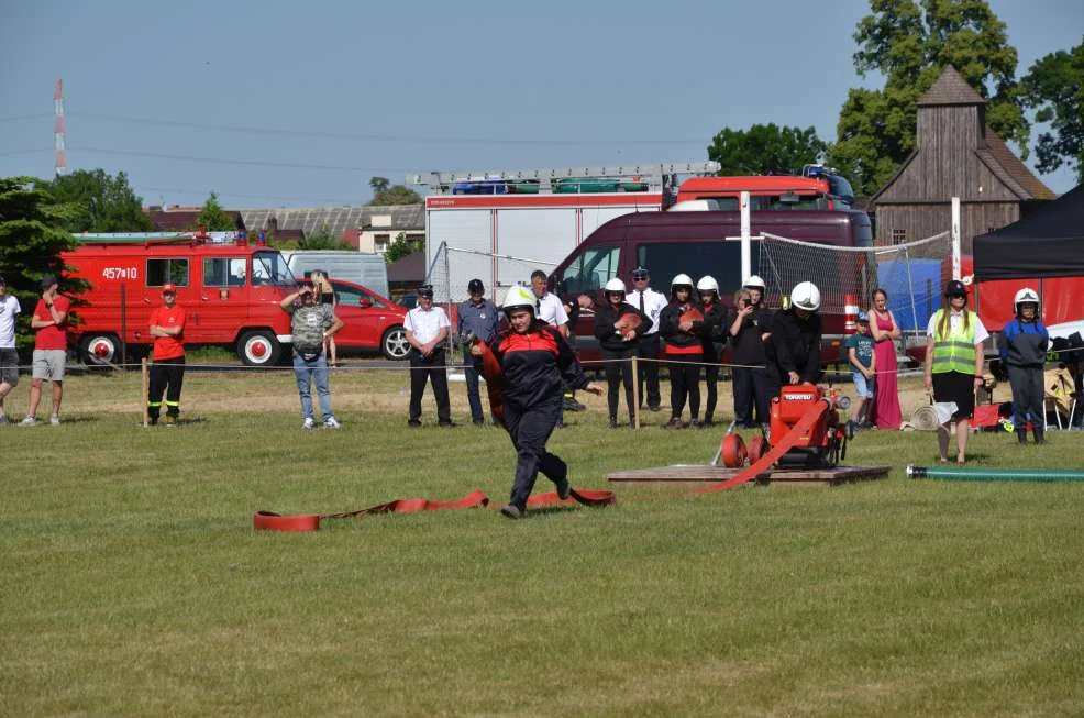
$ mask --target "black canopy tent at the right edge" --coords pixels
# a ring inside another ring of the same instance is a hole
[[[975,238],[976,281],[1084,277],[1084,185],[1024,219]]]

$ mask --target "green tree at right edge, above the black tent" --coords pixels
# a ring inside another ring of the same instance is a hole
[[[1039,172],[1069,164],[1084,183],[1084,42],[1036,60],[1021,84],[1025,103],[1038,110],[1036,122],[1053,129],[1036,143]]]

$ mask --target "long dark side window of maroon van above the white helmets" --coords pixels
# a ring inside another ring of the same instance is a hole
[[[761,243],[750,243],[751,266],[760,265]],[[707,240],[704,242],[651,242],[637,247],[637,264],[651,270],[651,284],[656,291],[670,294],[670,284],[679,274],[687,274],[695,285],[704,275],[719,283],[719,296],[727,299],[741,287],[741,242]]]

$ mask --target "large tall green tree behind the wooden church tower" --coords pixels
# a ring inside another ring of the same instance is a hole
[[[915,148],[918,99],[949,65],[987,100],[986,123],[1027,157],[1016,49],[986,0],[870,0],[870,10],[854,32],[854,67],[885,85],[850,90],[829,151],[860,194],[880,189]]]

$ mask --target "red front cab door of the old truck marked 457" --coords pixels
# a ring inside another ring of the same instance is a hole
[[[189,341],[229,344],[248,319],[248,258],[203,257],[199,294],[199,334]]]

